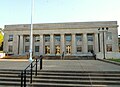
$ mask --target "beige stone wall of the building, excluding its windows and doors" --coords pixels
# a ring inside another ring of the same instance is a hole
[[[93,44],[94,51],[96,54],[103,53],[103,35],[98,31],[99,28],[108,27],[108,32],[112,32],[112,41],[105,40],[105,49],[106,44],[112,44],[112,52],[118,52],[118,30],[117,30],[117,22],[116,21],[103,21],[103,22],[74,22],[74,23],[49,23],[49,24],[34,24],[33,34],[40,36],[40,52],[34,55],[45,55],[45,47],[44,47],[44,35],[50,35],[50,50],[51,55],[55,53],[54,46],[54,35],[59,34],[61,36],[61,53],[65,51],[65,35],[71,34],[72,36],[72,51],[70,55],[89,55],[90,53],[87,51],[87,34],[92,33],[94,35],[94,42],[89,43]],[[4,51],[8,52],[9,45],[13,46],[13,52],[11,54],[14,55],[22,55],[25,53],[25,41],[24,36],[30,34],[30,25],[28,24],[20,24],[20,25],[6,25],[5,29],[5,38],[4,38]],[[82,53],[76,53],[76,43],[75,36],[76,34],[82,34]],[[98,34],[100,34],[100,52],[98,48]],[[13,41],[8,42],[9,35],[13,35]],[[106,38],[106,33],[105,33]],[[33,42],[34,44],[35,42]],[[29,44],[28,44],[29,45]],[[34,44],[35,45],[35,44]],[[33,45],[33,48],[34,48]],[[34,49],[33,49],[34,50]],[[33,51],[34,52],[34,51]],[[107,53],[106,53],[107,54]]]

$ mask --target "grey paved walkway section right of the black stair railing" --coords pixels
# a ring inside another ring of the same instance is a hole
[[[44,60],[45,70],[120,71],[120,66],[99,60]]]

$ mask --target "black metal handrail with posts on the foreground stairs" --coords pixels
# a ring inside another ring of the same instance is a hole
[[[40,70],[42,69],[42,56],[34,59],[24,70],[21,71],[21,87],[26,87],[26,77],[30,75],[30,84],[32,83],[33,68],[35,67],[35,76],[37,76],[37,65],[40,62]]]

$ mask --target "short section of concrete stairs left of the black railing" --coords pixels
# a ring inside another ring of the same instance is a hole
[[[20,87],[20,70],[0,69],[0,87]]]

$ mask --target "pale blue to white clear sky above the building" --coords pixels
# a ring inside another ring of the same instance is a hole
[[[30,21],[31,0],[0,0],[0,28]],[[119,25],[120,0],[34,0],[33,23],[91,21],[117,21]]]

